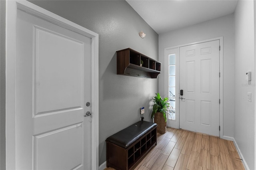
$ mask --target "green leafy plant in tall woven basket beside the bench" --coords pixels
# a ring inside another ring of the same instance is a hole
[[[162,99],[159,93],[155,94],[156,96],[153,97],[154,105],[151,119],[154,117],[154,123],[158,125],[156,128],[156,131],[158,133],[166,133],[166,113],[168,113],[170,103],[168,102],[168,97]]]

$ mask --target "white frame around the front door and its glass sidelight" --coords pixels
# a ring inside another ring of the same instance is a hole
[[[184,46],[188,46],[188,45],[194,45],[197,43],[204,43],[204,42],[210,42],[210,41],[215,41],[215,40],[219,40],[220,41],[220,138],[223,138],[223,36],[222,37],[217,37],[217,38],[211,38],[211,39],[207,39],[207,40],[202,40],[202,41],[198,41],[198,42],[192,42],[192,43],[186,43],[186,44],[182,44],[182,45],[176,45],[173,47],[167,47],[164,48],[164,90],[168,91],[168,79],[166,77],[168,77],[168,51],[178,48],[179,51],[179,56],[178,58],[180,59],[180,47],[184,47]],[[178,63],[178,67],[180,68],[180,63]],[[178,69],[178,72],[176,73],[176,76],[180,76],[180,69]],[[178,90],[178,92],[180,91],[180,81],[178,79],[178,81],[176,81],[176,91]],[[180,94],[180,93],[176,93],[176,94]],[[177,98],[179,96],[177,95]],[[178,99],[176,99],[178,100]],[[176,111],[175,111],[176,112]],[[180,113],[178,112],[178,116],[180,116]],[[180,118],[178,118],[178,120],[180,120]],[[176,121],[177,127],[176,128],[180,128],[180,121]],[[174,127],[175,128],[175,127]]]

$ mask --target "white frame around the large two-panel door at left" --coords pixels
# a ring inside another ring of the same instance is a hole
[[[92,169],[99,168],[99,35],[26,0],[6,1],[6,169],[16,169],[16,42],[17,10],[48,20],[58,26],[91,38],[92,46]]]

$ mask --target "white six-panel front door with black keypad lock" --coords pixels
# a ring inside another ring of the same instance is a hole
[[[180,47],[180,128],[219,136],[219,40]]]

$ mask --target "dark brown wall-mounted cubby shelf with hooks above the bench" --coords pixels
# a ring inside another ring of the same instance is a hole
[[[117,74],[134,77],[157,78],[161,73],[161,63],[139,53],[133,49],[127,48],[116,51],[117,54]],[[140,61],[143,65],[140,66]]]

